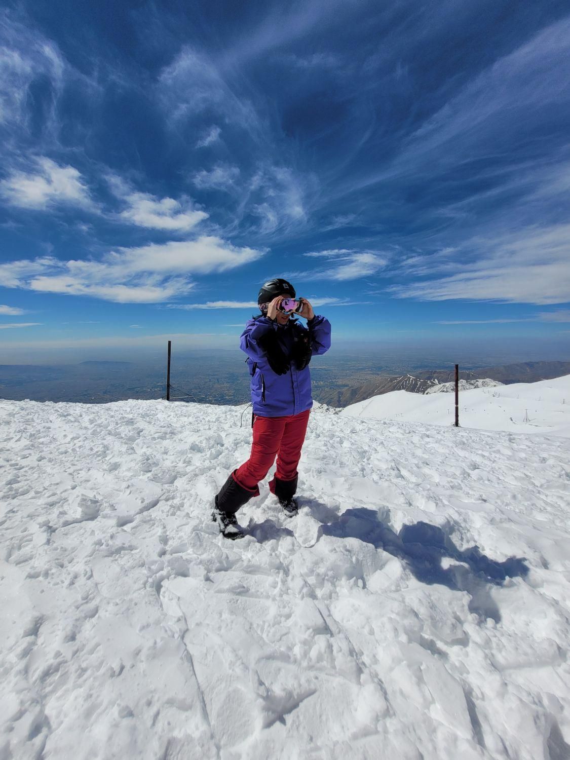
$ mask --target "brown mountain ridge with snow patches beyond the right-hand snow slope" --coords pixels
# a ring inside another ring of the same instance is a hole
[[[525,362],[518,364],[504,364],[484,369],[471,369],[459,372],[462,390],[467,388],[480,388],[482,385],[477,381],[494,380],[502,385],[511,385],[515,382],[538,382],[552,378],[570,375],[570,362]],[[423,370],[415,375],[378,375],[378,378],[364,385],[351,388],[334,388],[331,391],[319,389],[318,401],[331,407],[348,407],[359,401],[366,401],[373,396],[380,396],[391,391],[408,391],[409,393],[434,393],[451,391],[454,382],[454,369],[449,370]],[[438,387],[439,386],[439,387]]]

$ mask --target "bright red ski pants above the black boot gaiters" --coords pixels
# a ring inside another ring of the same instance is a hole
[[[301,458],[301,448],[305,441],[310,410],[283,417],[261,417],[255,415],[253,423],[252,453],[248,461],[233,472],[233,480],[242,488],[255,491],[259,495],[258,483],[267,475],[277,455],[275,477],[279,480],[293,480],[297,474],[297,464]],[[269,483],[274,493],[274,481]]]

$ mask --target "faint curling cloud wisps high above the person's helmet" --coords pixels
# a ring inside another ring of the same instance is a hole
[[[172,128],[201,124],[206,114],[223,121],[233,163],[218,159],[188,176],[198,191],[228,195],[220,214],[226,218],[219,222],[224,232],[282,236],[306,224],[309,197],[315,197],[318,182],[287,160],[290,151],[284,152],[282,144],[277,147],[265,113],[267,101],[244,86],[237,73],[223,60],[186,46],[160,72],[157,97]],[[202,132],[196,147],[216,144],[219,130]]]

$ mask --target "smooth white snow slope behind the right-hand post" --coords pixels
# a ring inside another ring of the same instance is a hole
[[[452,425],[455,419],[454,404],[454,394],[424,395],[393,391],[351,404],[341,410],[340,415]],[[570,437],[570,375],[554,380],[460,392],[459,424],[480,430]]]

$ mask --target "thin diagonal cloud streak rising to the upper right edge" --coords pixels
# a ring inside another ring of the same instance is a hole
[[[569,61],[570,17],[566,17],[469,78],[402,139],[390,163],[350,182],[350,192],[397,176],[423,176],[426,171],[439,176],[450,166],[493,156],[500,162],[495,170],[508,173],[511,162],[501,161],[495,144],[505,135],[518,135],[521,119],[527,129],[537,128],[546,109],[568,103]],[[485,171],[492,168],[488,163],[483,166]]]

